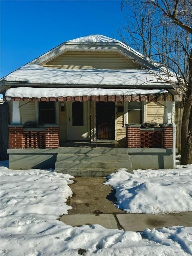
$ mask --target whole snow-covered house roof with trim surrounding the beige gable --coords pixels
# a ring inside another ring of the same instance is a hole
[[[67,51],[116,51],[143,68],[132,70],[64,70],[43,67],[48,61]],[[121,41],[103,35],[89,35],[66,41],[3,77],[1,86],[4,86],[4,81],[79,86],[161,85],[161,88],[162,86],[170,86],[170,84],[174,86],[178,84],[176,76],[160,64],[153,62]]]

